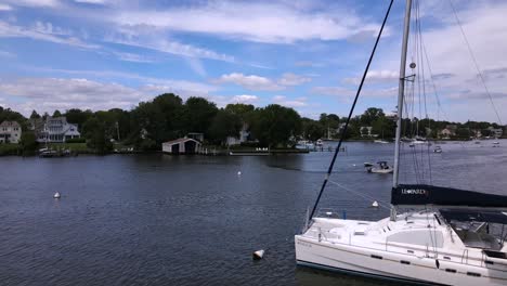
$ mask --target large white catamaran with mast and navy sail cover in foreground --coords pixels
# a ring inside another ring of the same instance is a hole
[[[507,224],[507,196],[426,184],[399,184],[400,135],[411,6],[412,0],[406,0],[391,214],[379,221],[315,216],[326,183],[333,182],[329,180],[329,174],[335,156],[307,220],[308,223],[302,233],[295,236],[297,263],[402,282],[505,286],[507,285],[506,237],[504,234],[500,238],[493,236],[490,226],[504,227]],[[388,14],[389,11],[390,9]],[[379,37],[381,30],[382,28]],[[361,87],[362,83],[356,98]],[[351,110],[354,105],[355,102]],[[410,210],[403,212],[401,211],[403,209]]]

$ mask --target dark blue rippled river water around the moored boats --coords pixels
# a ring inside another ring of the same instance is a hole
[[[433,183],[505,194],[507,142],[442,148],[429,154]],[[392,162],[392,150],[347,143],[332,179],[389,202],[392,176],[368,174],[363,162]],[[294,234],[330,155],[2,157],[0,284],[393,285],[295,264]],[[404,180],[416,179],[414,158],[428,169],[427,154],[406,147],[403,158]],[[350,219],[388,216],[370,204],[329,185],[321,206]],[[264,259],[252,261],[261,248]]]

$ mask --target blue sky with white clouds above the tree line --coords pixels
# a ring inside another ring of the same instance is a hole
[[[422,87],[416,102],[422,106],[425,99],[426,108],[413,116],[507,122],[507,1],[418,2],[427,60],[411,40],[408,63],[425,74],[414,90]],[[310,118],[344,116],[388,4],[0,0],[0,106],[26,116],[32,109],[131,109],[173,92],[219,107],[276,103]],[[369,106],[395,109],[404,9],[405,1],[394,1],[356,114]]]

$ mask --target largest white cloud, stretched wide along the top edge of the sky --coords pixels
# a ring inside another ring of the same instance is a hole
[[[120,11],[113,16],[113,21],[120,25],[148,25],[166,30],[275,43],[339,40],[361,31],[375,31],[379,27],[378,24],[365,22],[349,9],[329,4],[323,11],[270,2],[210,1],[204,5],[172,6],[158,11]]]

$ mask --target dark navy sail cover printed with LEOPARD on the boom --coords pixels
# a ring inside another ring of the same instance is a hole
[[[391,204],[395,206],[438,205],[507,208],[507,196],[444,186],[401,184],[392,188]]]

